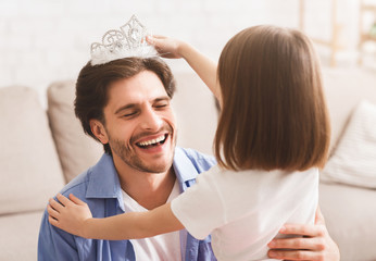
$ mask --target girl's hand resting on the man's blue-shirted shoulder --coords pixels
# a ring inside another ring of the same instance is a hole
[[[71,200],[61,194],[57,198],[60,202],[51,198],[47,207],[49,222],[67,233],[85,237],[85,222],[92,219],[87,203],[73,194],[70,195]]]

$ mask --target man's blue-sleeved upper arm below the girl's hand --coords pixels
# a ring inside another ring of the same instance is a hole
[[[38,239],[38,261],[78,261],[78,252],[73,235],[67,234],[48,222],[45,211]]]

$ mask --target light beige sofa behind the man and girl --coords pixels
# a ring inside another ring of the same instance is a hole
[[[175,75],[178,145],[211,153],[217,121],[214,99],[193,73]],[[359,101],[365,98],[376,103],[376,74],[325,70],[324,79],[335,153]],[[48,198],[102,153],[74,116],[74,82],[53,83],[47,98],[46,113],[33,89],[0,88],[0,261],[37,259],[38,229]],[[319,197],[341,260],[376,260],[376,190],[322,182]]]

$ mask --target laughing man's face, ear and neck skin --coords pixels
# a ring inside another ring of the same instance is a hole
[[[155,60],[149,63],[159,64]],[[171,169],[176,142],[171,98],[154,72],[141,71],[112,83],[108,100],[105,121],[90,120],[91,132],[103,145],[109,144],[127,195],[147,209],[159,207],[166,202],[176,179]]]

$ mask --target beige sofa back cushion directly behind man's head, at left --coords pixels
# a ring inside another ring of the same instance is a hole
[[[103,153],[102,145],[85,135],[74,114],[74,82],[58,82],[48,88],[48,115],[66,182],[96,164]]]

